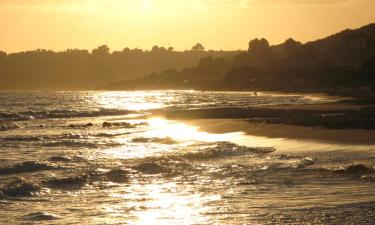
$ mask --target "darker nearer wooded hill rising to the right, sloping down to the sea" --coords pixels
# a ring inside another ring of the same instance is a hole
[[[203,57],[194,67],[166,70],[106,89],[339,91],[375,89],[375,24],[301,44],[254,39],[233,58]]]

